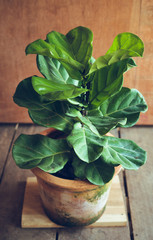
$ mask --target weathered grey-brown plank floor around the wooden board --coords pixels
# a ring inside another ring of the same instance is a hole
[[[25,181],[32,176],[12,160],[11,147],[20,133],[33,134],[43,130],[34,125],[0,125],[0,239],[1,240],[151,240],[153,239],[153,127],[120,130],[120,136],[136,141],[148,152],[148,161],[138,172],[120,174],[128,211],[128,226],[76,229],[21,229],[21,210]],[[118,135],[115,131],[114,135]]]

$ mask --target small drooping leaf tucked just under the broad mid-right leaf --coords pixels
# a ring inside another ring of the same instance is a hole
[[[88,119],[94,124],[100,135],[105,135],[118,124],[125,125],[127,121],[126,118],[112,118],[104,116],[88,116]]]

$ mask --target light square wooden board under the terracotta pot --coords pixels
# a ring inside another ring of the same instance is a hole
[[[27,179],[21,225],[23,228],[62,227],[53,223],[44,213],[35,177]],[[124,200],[119,177],[116,176],[112,183],[109,200],[103,216],[96,223],[88,227],[115,227],[126,225],[127,217]]]

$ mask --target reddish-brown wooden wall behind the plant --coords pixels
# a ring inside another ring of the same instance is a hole
[[[139,124],[153,124],[153,1],[149,0],[0,0],[0,122],[30,122],[26,109],[12,101],[17,84],[38,74],[35,56],[25,56],[28,43],[56,30],[79,25],[94,33],[94,57],[105,54],[121,32],[138,34],[145,56],[125,75],[125,85],[140,90],[150,110]]]

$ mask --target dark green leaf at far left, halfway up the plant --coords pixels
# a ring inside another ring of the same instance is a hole
[[[32,120],[45,127],[61,131],[73,128],[73,120],[65,115],[67,104],[61,101],[50,103],[37,94],[31,84],[31,78],[20,82],[14,94],[14,102],[29,109]]]

